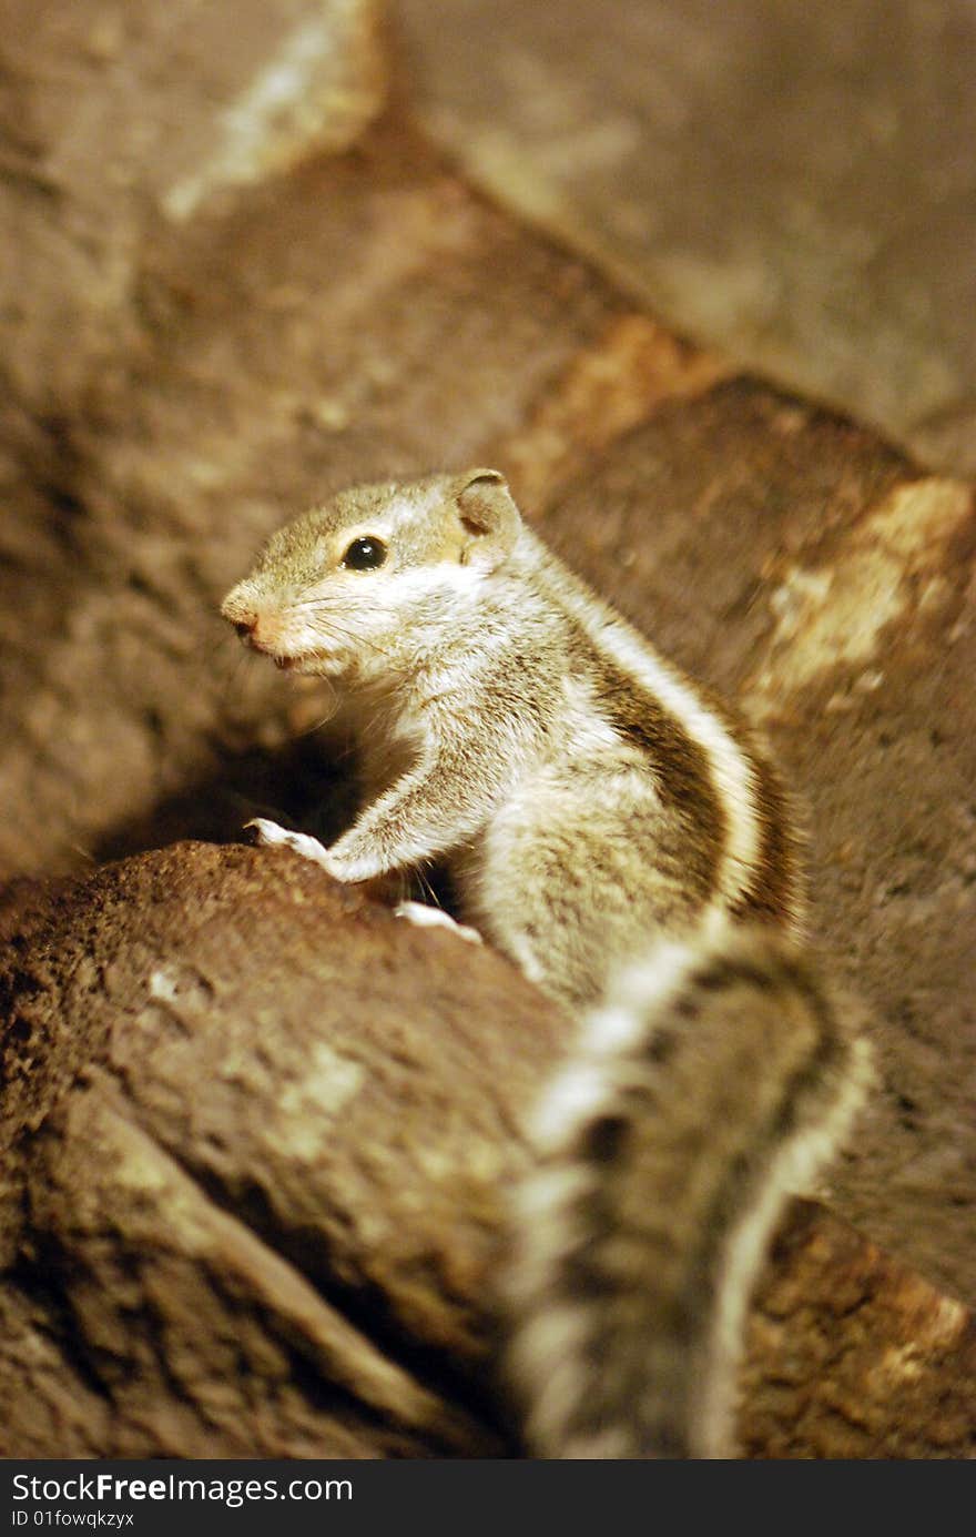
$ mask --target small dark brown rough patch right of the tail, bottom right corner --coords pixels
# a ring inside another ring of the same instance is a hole
[[[973,1457],[976,1322],[810,1202],[782,1225],[750,1320],[753,1457]]]

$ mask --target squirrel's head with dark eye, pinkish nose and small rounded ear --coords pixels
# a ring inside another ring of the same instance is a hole
[[[520,530],[500,470],[354,486],[278,529],[220,612],[280,667],[375,673],[435,647]]]

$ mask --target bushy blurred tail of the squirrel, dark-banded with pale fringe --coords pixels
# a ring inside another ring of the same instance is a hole
[[[627,968],[538,1117],[504,1280],[539,1457],[735,1456],[745,1310],[867,1047],[796,947],[722,925]]]

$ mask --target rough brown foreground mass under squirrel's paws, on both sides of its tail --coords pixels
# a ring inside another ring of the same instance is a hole
[[[284,850],[32,893],[0,973],[5,1456],[512,1456],[492,1276],[570,1022]],[[753,1456],[967,1456],[965,1310],[798,1203]]]

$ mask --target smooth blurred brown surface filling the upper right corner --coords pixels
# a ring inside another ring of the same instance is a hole
[[[424,124],[656,314],[976,470],[971,0],[393,0]]]

